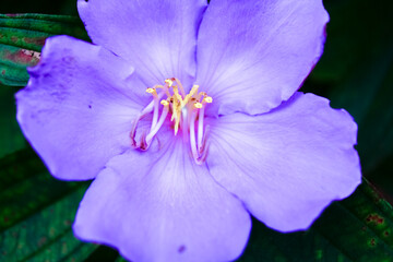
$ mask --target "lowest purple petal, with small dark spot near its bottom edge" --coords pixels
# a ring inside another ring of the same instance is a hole
[[[79,238],[114,246],[131,261],[234,260],[250,228],[241,202],[193,163],[181,138],[109,160],[73,226]]]

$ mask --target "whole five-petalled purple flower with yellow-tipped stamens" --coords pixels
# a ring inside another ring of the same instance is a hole
[[[17,120],[60,179],[93,179],[75,235],[132,261],[228,261],[250,214],[308,228],[360,183],[357,127],[296,92],[321,0],[80,0],[95,45],[49,38]]]

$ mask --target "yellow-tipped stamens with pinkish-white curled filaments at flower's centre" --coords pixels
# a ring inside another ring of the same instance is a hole
[[[146,88],[146,92],[153,95],[153,100],[141,111],[133,123],[130,133],[132,146],[144,151],[147,150],[153,138],[163,127],[168,114],[171,114],[170,121],[174,124],[175,135],[177,135],[179,129],[182,130],[183,138],[190,141],[194,160],[201,164],[206,157],[207,130],[204,130],[203,127],[204,108],[206,104],[213,102],[213,98],[207,96],[205,92],[198,92],[198,90],[199,85],[193,85],[191,91],[186,94],[181,82],[175,78],[165,80],[164,85],[154,85]],[[151,112],[153,112],[151,129],[148,132],[144,132],[141,142],[136,143],[138,122]],[[198,134],[195,136],[194,126],[196,120]]]

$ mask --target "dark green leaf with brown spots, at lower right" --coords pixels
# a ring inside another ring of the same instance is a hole
[[[393,258],[393,210],[368,181],[333,203],[307,231],[281,234],[258,221],[239,261],[365,261]]]

